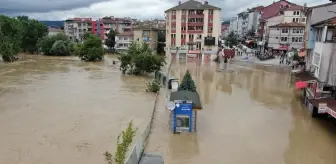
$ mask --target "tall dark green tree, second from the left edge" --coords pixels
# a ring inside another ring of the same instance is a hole
[[[18,16],[17,20],[23,25],[21,49],[25,52],[36,53],[38,51],[37,42],[48,34],[48,27],[35,19],[29,19],[27,16]]]

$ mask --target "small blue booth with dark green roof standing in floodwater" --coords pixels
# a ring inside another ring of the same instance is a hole
[[[196,131],[197,111],[202,109],[197,92],[171,92],[168,108],[171,110],[170,127],[173,133]]]

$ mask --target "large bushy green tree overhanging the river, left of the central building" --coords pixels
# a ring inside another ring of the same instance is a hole
[[[121,61],[120,70],[129,74],[152,73],[160,70],[165,64],[162,56],[153,54],[147,44],[133,42],[126,54],[119,57]]]

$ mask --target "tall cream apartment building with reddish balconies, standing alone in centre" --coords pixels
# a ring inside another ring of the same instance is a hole
[[[177,58],[210,60],[218,51],[221,9],[189,0],[165,11],[166,48]],[[177,51],[176,48],[179,48]]]

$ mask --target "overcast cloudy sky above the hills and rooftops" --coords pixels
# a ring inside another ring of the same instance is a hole
[[[187,0],[181,0],[185,2]],[[274,0],[208,0],[222,8],[222,18],[229,19],[247,8],[267,6]],[[328,3],[329,0],[289,0],[308,6]],[[204,2],[204,1],[203,1]],[[0,0],[0,14],[28,15],[39,20],[65,20],[71,17],[103,16],[138,19],[163,18],[164,10],[178,4],[178,0]]]

